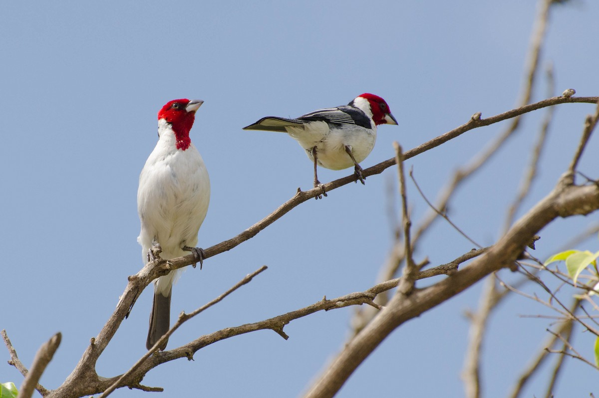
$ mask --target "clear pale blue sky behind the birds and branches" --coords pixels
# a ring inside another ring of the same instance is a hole
[[[386,99],[399,126],[381,126],[362,166],[394,156],[516,104],[536,2],[507,1],[105,1],[4,2],[0,14],[0,145],[2,297],[7,329],[23,363],[62,332],[62,345],[41,383],[56,388],[114,309],[128,275],[143,265],[136,195],[138,176],[156,143],[156,113],[177,98],[203,99],[192,141],[210,172],[212,196],[199,245],[242,232],[311,187],[311,164],[283,134],[241,130],[264,116],[296,117],[347,104],[363,92]],[[370,4],[367,5],[367,4]],[[555,7],[543,64],[553,62],[556,91],[599,95],[599,2]],[[534,100],[546,96],[544,79]],[[560,105],[539,180],[525,209],[565,171],[592,105]],[[452,220],[483,245],[498,236],[505,208],[528,164],[543,111],[528,115],[506,148],[463,186]],[[452,171],[505,127],[476,129],[407,162],[434,199]],[[581,171],[597,177],[595,136]],[[595,154],[592,154],[594,151]],[[323,182],[352,172],[320,169]],[[190,321],[171,337],[178,347],[223,327],[302,308],[322,296],[365,290],[376,282],[393,241],[390,183],[395,169],[310,200],[228,253],[188,269],[173,291],[173,314],[190,312],[259,266],[249,285]],[[427,210],[410,182],[414,222]],[[541,233],[537,255],[597,220],[559,220]],[[597,240],[585,247],[597,250]],[[438,222],[416,260],[449,262],[470,242]],[[510,278],[510,275],[506,278]],[[423,282],[426,285],[430,282]],[[481,284],[404,324],[350,378],[339,397],[462,396],[467,309]],[[124,372],[145,352],[148,288],[98,363],[102,376]],[[152,370],[143,384],[162,396],[294,397],[301,394],[347,337],[351,308],[322,312],[286,326],[284,341],[261,331],[210,345],[195,361]],[[505,396],[546,338],[551,314],[511,297],[486,339],[483,382],[488,397]],[[592,339],[576,335],[580,350]],[[6,350],[0,357],[8,360]],[[555,358],[554,358],[555,359]],[[598,393],[597,373],[570,361],[556,396]],[[527,396],[542,396],[549,367]],[[22,377],[0,363],[0,382]],[[595,388],[595,390],[592,390]],[[119,390],[114,397],[147,393]]]

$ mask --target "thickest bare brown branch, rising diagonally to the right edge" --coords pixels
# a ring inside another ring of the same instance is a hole
[[[521,217],[483,256],[451,277],[410,296],[395,294],[389,305],[349,341],[328,369],[314,382],[305,397],[332,397],[362,361],[395,328],[455,296],[486,275],[512,264],[522,248],[541,228],[557,217],[588,214],[599,209],[599,187],[574,186],[567,178],[558,181],[543,200]]]

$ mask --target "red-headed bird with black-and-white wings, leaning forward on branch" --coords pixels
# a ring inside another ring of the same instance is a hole
[[[298,141],[314,163],[314,188],[320,187],[326,196],[316,166],[331,170],[353,166],[354,174],[364,184],[359,163],[373,150],[379,124],[397,124],[397,120],[384,99],[364,93],[347,105],[316,110],[296,119],[267,116],[243,129],[288,133]]]

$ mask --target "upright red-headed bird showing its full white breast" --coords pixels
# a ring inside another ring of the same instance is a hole
[[[137,191],[141,221],[137,241],[144,264],[158,253],[168,260],[191,251],[200,264],[203,260],[203,250],[195,246],[210,203],[210,178],[202,156],[189,138],[195,113],[203,103],[197,99],[175,99],[158,112],[158,143],[141,171]],[[171,293],[180,272],[181,269],[170,272],[154,281],[148,350],[170,328]],[[166,347],[164,342],[158,349]]]

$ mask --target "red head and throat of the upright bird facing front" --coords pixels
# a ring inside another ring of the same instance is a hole
[[[171,124],[177,139],[177,149],[186,150],[191,144],[189,130],[195,120],[195,111],[204,101],[189,99],[173,99],[167,102],[158,112],[158,120],[164,119]]]

